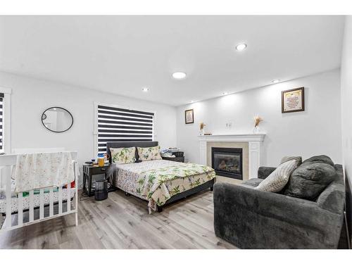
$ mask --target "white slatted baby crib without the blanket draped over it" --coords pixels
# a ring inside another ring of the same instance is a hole
[[[63,186],[58,188],[42,188],[39,189],[39,193],[36,191],[36,194],[34,194],[34,190],[31,190],[27,197],[24,197],[22,192],[18,193],[17,196],[11,195],[11,170],[16,164],[18,154],[0,156],[1,184],[5,182],[6,188],[6,198],[0,200],[0,233],[52,218],[58,218],[70,213],[75,213],[75,221],[76,225],[78,225],[77,152],[70,152],[75,170],[75,188],[71,188],[71,184],[68,182],[67,188]],[[49,192],[44,191],[44,189],[49,189]],[[58,190],[56,191],[56,189]],[[66,203],[66,210],[63,210],[64,203]],[[54,212],[54,205],[57,205],[57,213]],[[2,211],[1,206],[4,207]],[[46,213],[44,213],[44,208],[49,208],[49,212],[46,210]],[[34,217],[34,210],[36,213],[39,210],[39,215],[36,214],[36,217]],[[17,215],[17,221],[15,221],[15,215]],[[24,216],[26,217],[24,218]],[[1,222],[4,222],[2,227]]]

